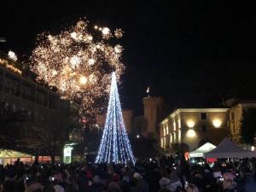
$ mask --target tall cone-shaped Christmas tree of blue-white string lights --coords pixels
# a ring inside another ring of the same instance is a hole
[[[96,163],[135,163],[131,145],[125,130],[115,73],[112,73],[108,113]]]

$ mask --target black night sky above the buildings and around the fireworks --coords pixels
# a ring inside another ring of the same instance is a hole
[[[38,33],[60,32],[84,17],[91,25],[122,28],[124,108],[140,111],[148,86],[151,96],[163,96],[170,108],[256,98],[253,1],[38,2],[1,2],[0,37],[7,43],[0,49],[25,60]]]

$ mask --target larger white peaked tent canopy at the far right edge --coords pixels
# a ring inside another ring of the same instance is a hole
[[[245,158],[256,157],[256,152],[249,151],[232,143],[227,137],[218,144],[217,148],[203,154],[204,158]]]

